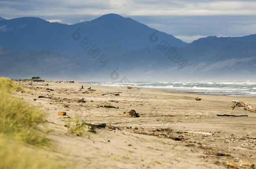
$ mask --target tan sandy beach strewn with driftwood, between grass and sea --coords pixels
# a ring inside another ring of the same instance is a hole
[[[94,85],[79,89],[80,83],[64,82],[19,84],[31,93],[14,95],[45,112],[53,151],[71,168],[222,169],[226,161],[239,164],[240,159],[256,164],[256,114],[229,107],[232,100],[256,107],[256,98]],[[122,93],[102,96],[109,92]],[[202,100],[196,101],[196,96]],[[86,103],[79,102],[82,98]],[[132,109],[140,117],[131,117]],[[58,111],[67,116],[58,116]],[[76,136],[65,125],[77,118],[107,127]]]

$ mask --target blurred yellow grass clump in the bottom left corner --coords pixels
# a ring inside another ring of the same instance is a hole
[[[15,143],[0,137],[0,169],[60,169],[62,161],[49,156],[47,151]]]

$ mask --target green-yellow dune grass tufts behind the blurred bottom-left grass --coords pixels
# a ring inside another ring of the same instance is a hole
[[[0,133],[19,138],[26,144],[44,146],[48,139],[37,129],[43,122],[42,112],[9,94],[21,90],[23,88],[10,79],[0,78]]]

